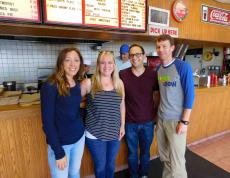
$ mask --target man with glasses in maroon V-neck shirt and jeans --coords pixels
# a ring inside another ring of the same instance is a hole
[[[129,151],[129,173],[131,178],[147,178],[158,104],[157,75],[154,70],[144,66],[146,56],[142,46],[130,46],[129,58],[132,66],[120,71],[125,86],[125,138]]]

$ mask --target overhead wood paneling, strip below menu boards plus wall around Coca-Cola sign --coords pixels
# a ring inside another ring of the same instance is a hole
[[[230,27],[201,22],[201,4],[207,4],[230,10],[230,5],[213,0],[184,0],[188,4],[189,15],[181,22],[170,16],[170,26],[179,28],[178,42],[186,42],[191,46],[230,45]],[[148,6],[171,9],[174,0],[147,0]],[[20,24],[0,22],[0,38],[55,41],[97,40],[97,41],[154,41],[155,37],[145,33],[132,31],[113,31],[111,29],[94,29],[60,25]]]

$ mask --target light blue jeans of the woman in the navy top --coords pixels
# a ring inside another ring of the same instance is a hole
[[[64,170],[58,169],[54,151],[48,145],[48,162],[52,178],[80,178],[81,159],[85,146],[85,134],[76,143],[63,145],[67,157],[67,166]]]

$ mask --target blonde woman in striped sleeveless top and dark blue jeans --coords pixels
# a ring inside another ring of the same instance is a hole
[[[112,52],[99,53],[95,74],[82,82],[81,94],[87,95],[86,144],[95,176],[113,178],[120,140],[125,134],[125,93]]]

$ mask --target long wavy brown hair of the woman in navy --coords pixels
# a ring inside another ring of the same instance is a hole
[[[57,58],[57,64],[56,64],[56,69],[55,72],[48,78],[48,81],[51,84],[57,84],[57,89],[58,89],[58,94],[61,96],[67,96],[69,95],[69,82],[65,76],[65,71],[64,71],[64,60],[66,58],[67,53],[75,51],[79,58],[80,58],[80,68],[77,74],[73,77],[75,81],[79,80],[83,76],[84,72],[84,64],[83,64],[83,57],[80,53],[80,51],[76,48],[65,48],[63,49]]]

